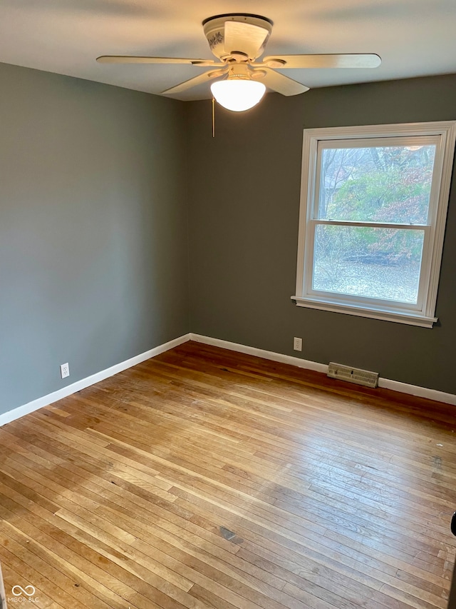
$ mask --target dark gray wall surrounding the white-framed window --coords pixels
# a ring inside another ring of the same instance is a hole
[[[304,128],[456,119],[456,76],[266,96],[235,114],[190,107],[192,332],[378,371],[456,393],[456,188],[453,179],[432,329],[299,308],[295,291]],[[456,176],[456,173],[455,173]]]

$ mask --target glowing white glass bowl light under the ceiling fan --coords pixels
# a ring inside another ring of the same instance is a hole
[[[266,86],[258,81],[231,78],[212,83],[211,91],[220,106],[234,112],[244,112],[261,101]]]

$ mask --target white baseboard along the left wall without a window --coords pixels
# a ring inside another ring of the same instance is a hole
[[[160,355],[160,353],[169,351],[170,349],[182,345],[182,343],[186,343],[187,341],[190,341],[190,334],[184,334],[184,336],[180,336],[179,338],[175,338],[172,341],[154,347],[149,351],[140,353],[139,356],[135,356],[123,362],[117,363],[115,364],[115,366],[106,368],[105,370],[92,374],[91,376],[87,376],[86,378],[81,378],[81,381],[76,381],[76,383],[67,385],[66,387],[58,389],[58,391],[48,393],[47,396],[43,396],[42,398],[38,398],[37,400],[28,402],[28,404],[24,404],[24,406],[14,408],[12,411],[0,415],[0,427],[6,425],[6,423],[11,423],[11,421],[16,421],[17,418],[21,418],[21,416],[24,416],[28,413],[33,413],[34,411],[37,411],[38,408],[43,408],[43,406],[48,406],[48,404],[52,404],[53,402],[57,402],[58,400],[67,398],[73,393],[76,393],[76,391],[81,391],[81,389],[85,389],[90,385],[95,385],[95,383],[99,383],[100,381],[103,381],[109,376],[113,376],[118,372],[127,370],[127,368],[136,366],[137,363],[141,363],[150,358],[158,356]]]

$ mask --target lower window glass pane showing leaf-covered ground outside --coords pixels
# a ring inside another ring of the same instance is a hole
[[[316,226],[314,290],[417,303],[424,231]]]

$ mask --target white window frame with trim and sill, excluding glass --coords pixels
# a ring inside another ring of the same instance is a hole
[[[430,209],[426,224],[354,223],[351,221],[317,219],[319,163],[321,158],[319,151],[322,146],[324,148],[341,147],[344,141],[347,144],[351,143],[353,148],[407,146],[407,140],[412,138],[413,144],[417,144],[418,138],[423,139],[423,144],[436,144]],[[296,294],[291,296],[292,300],[296,301],[296,305],[432,328],[433,323],[437,321],[435,305],[442,261],[455,140],[456,121],[304,129]],[[319,145],[320,142],[323,144]],[[353,226],[355,224],[356,226],[379,228],[423,229],[425,238],[420,268],[418,303],[400,303],[314,290],[312,288],[314,236],[318,224],[339,226]]]

